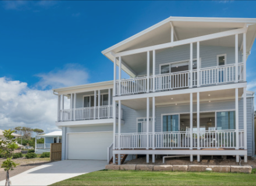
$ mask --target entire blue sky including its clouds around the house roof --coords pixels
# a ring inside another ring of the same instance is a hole
[[[0,128],[59,130],[52,88],[113,80],[113,63],[101,51],[163,19],[256,18],[255,7],[256,1],[0,1]],[[251,91],[255,60],[254,44]]]

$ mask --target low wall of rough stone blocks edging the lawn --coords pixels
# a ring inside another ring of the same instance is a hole
[[[251,166],[206,166],[206,165],[152,165],[152,164],[107,164],[109,170],[147,170],[147,171],[206,171],[211,168],[219,173],[251,173]]]

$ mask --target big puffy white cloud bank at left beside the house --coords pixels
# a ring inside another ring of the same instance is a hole
[[[69,100],[65,99],[68,107]],[[57,96],[51,90],[35,90],[27,83],[0,78],[0,128],[17,126],[59,130],[55,126]]]

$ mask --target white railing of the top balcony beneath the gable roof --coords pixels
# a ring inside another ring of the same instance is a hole
[[[217,85],[225,83],[234,83],[243,81],[243,63],[238,65],[238,74],[236,74],[236,66],[225,65],[200,69],[199,80],[197,80],[197,70],[193,70],[192,74],[188,71],[179,71],[176,73],[159,74],[155,78],[136,77],[127,80],[116,81],[116,96],[141,94],[152,91],[168,91],[180,88],[189,88],[194,86]],[[192,76],[192,77],[191,77]],[[191,85],[192,78],[192,85]],[[149,87],[148,83],[149,82]],[[154,86],[154,83],[155,86]],[[120,84],[120,87],[119,87]],[[120,90],[119,90],[120,88]]]

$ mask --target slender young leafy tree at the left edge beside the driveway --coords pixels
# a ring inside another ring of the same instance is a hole
[[[14,136],[12,133],[14,133],[15,130],[5,130],[3,131],[3,136],[5,137],[6,140],[1,141],[3,145],[1,145],[1,152],[3,155],[6,157],[6,160],[2,163],[1,168],[4,168],[6,171],[6,182],[5,186],[8,185],[10,186],[10,180],[9,180],[9,171],[13,170],[14,167],[16,167],[18,164],[13,162],[12,160],[12,155],[13,151],[17,149],[19,146],[16,143],[16,140],[13,139]]]

